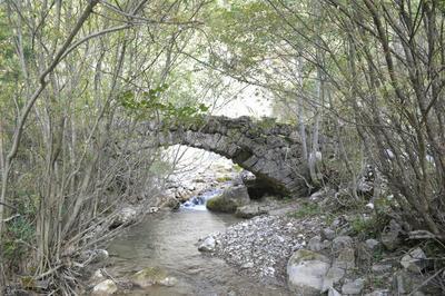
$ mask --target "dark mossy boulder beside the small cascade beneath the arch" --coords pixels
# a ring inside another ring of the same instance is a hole
[[[235,213],[238,207],[249,203],[246,186],[227,188],[221,195],[207,200],[206,206],[212,211]]]

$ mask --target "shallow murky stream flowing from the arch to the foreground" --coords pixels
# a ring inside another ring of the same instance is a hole
[[[131,295],[288,295],[281,287],[261,284],[228,266],[222,259],[204,255],[197,241],[239,219],[207,211],[205,201],[218,194],[209,191],[191,199],[179,211],[158,213],[111,241],[113,264],[108,270],[128,277],[146,267],[160,267],[176,277],[172,287],[152,286]]]

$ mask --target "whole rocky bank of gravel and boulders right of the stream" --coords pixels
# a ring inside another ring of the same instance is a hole
[[[312,203],[326,203],[318,198]],[[308,209],[307,200],[291,203],[299,209],[289,211],[289,204],[283,203],[287,210],[276,208],[278,215],[257,216],[211,234],[198,248],[295,295],[443,295],[441,259],[406,240],[396,220],[370,235],[357,226],[372,225],[369,214],[332,217]]]

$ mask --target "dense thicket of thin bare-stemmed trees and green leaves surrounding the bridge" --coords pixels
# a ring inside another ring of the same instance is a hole
[[[444,13],[438,0],[1,1],[0,286],[28,274],[75,289],[119,203],[150,199],[168,172],[144,121],[201,118],[244,86],[296,124],[310,186],[347,184],[358,201],[372,165],[373,199],[394,195],[413,229],[445,240]]]

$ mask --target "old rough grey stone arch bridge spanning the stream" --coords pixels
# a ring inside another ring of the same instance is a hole
[[[296,127],[274,119],[208,116],[199,122],[147,122],[157,145],[186,145],[231,159],[284,195],[307,196],[309,180]]]

